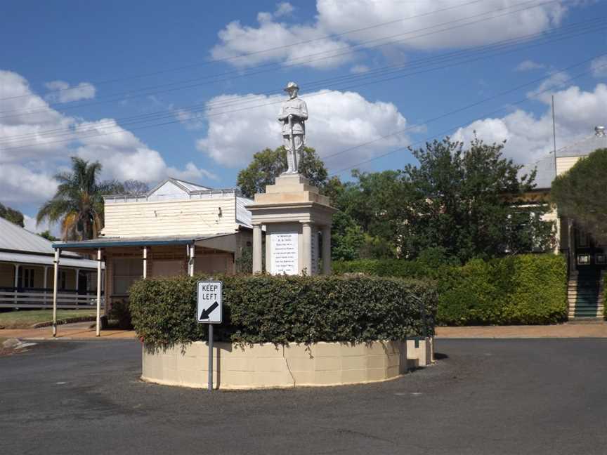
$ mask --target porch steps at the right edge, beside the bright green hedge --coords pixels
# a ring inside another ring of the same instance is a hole
[[[603,319],[604,281],[604,274],[599,270],[572,272],[567,288],[570,320]]]

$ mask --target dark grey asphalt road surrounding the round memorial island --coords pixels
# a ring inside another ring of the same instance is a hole
[[[373,385],[214,392],[138,380],[136,341],[0,357],[0,454],[606,454],[607,339],[438,340]]]

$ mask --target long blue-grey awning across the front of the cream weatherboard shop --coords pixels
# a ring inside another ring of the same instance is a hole
[[[155,245],[187,245],[202,240],[216,239],[234,235],[235,232],[226,232],[212,235],[179,235],[168,237],[99,237],[98,239],[82,240],[81,242],[53,242],[55,249],[97,249],[112,248],[115,246],[155,246]]]

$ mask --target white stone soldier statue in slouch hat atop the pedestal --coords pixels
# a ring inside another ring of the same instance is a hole
[[[299,86],[289,82],[285,87],[289,99],[282,103],[278,120],[282,122],[282,143],[287,149],[287,171],[285,173],[298,173],[298,158],[306,143],[306,120],[308,119],[308,106],[306,102],[297,98]]]

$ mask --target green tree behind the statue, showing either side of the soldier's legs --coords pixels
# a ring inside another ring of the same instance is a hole
[[[310,179],[315,187],[322,188],[327,181],[327,169],[316,151],[304,147],[299,161],[299,173]],[[253,161],[246,169],[238,173],[236,184],[245,197],[254,197],[255,193],[266,191],[266,185],[273,185],[276,178],[287,170],[287,150],[278,147],[275,150],[266,148],[253,155]]]

